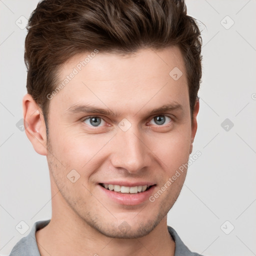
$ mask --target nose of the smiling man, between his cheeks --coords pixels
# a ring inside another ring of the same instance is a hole
[[[138,173],[150,166],[150,151],[141,132],[132,126],[127,131],[119,130],[113,141],[111,163],[129,173]]]

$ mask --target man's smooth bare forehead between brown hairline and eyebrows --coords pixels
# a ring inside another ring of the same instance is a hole
[[[124,56],[80,53],[60,67],[58,79],[63,86],[50,104],[63,110],[78,102],[133,112],[145,105],[189,104],[183,57],[175,46]]]

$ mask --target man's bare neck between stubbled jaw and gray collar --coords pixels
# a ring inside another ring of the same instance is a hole
[[[54,189],[55,190],[55,189]],[[64,203],[59,192],[52,194],[52,217],[35,233],[41,256],[91,255],[133,256],[174,255],[175,243],[167,230],[167,216],[147,235],[140,238],[111,238],[99,233]],[[64,205],[64,206],[63,206]]]

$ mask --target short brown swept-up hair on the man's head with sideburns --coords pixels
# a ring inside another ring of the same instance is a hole
[[[27,93],[47,127],[59,67],[77,53],[128,54],[177,45],[185,62],[192,112],[201,79],[201,37],[184,0],[42,0],[27,24],[24,60]]]

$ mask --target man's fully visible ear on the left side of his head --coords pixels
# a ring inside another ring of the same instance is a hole
[[[30,94],[22,100],[25,133],[38,154],[47,155],[46,126],[41,108]]]

